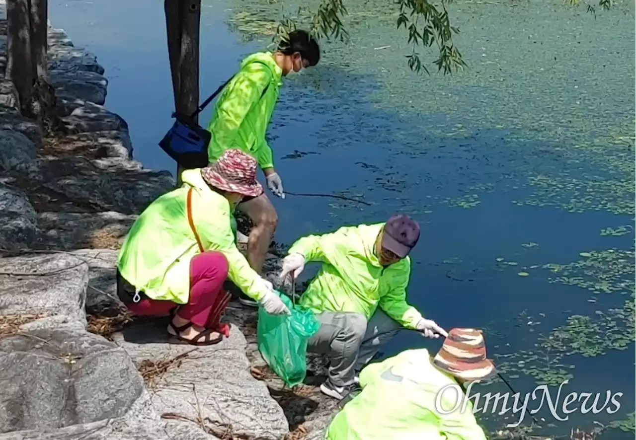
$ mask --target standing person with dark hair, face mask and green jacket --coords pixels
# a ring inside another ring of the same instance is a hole
[[[314,66],[319,59],[317,41],[300,30],[290,32],[276,52],[259,52],[245,58],[214,107],[207,128],[212,134],[208,146],[210,162],[228,148],[240,148],[258,160],[270,191],[285,198],[265,132],[279,97],[282,77]],[[265,193],[245,197],[238,209],[254,223],[247,241],[247,261],[261,273],[278,223],[276,210]],[[255,305],[245,296],[241,299],[245,305]]]

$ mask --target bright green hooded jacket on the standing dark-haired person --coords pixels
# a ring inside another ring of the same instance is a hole
[[[241,62],[240,71],[219,95],[207,127],[212,134],[210,162],[226,149],[239,148],[254,157],[261,168],[274,166],[265,132],[279,97],[281,78],[282,69],[271,52],[254,53]]]

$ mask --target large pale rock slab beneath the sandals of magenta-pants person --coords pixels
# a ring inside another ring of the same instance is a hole
[[[160,319],[127,327],[113,337],[137,362],[169,360],[193,350],[188,345],[167,344],[166,322]],[[228,427],[232,427],[234,438],[280,440],[289,432],[280,406],[265,384],[249,373],[245,338],[235,326],[230,338],[211,347],[198,347],[157,380],[153,394],[157,413],[179,415],[168,420],[167,432],[174,438],[182,438],[177,433],[193,426],[188,418],[199,417],[217,436]]]

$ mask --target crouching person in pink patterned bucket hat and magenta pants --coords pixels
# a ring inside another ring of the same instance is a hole
[[[220,322],[230,299],[222,288],[228,277],[268,313],[289,313],[239,252],[232,231],[237,203],[263,191],[256,160],[230,149],[181,178],[181,188],[157,198],[128,231],[117,261],[122,301],[135,315],[170,315],[168,333],[193,345],[228,336]]]

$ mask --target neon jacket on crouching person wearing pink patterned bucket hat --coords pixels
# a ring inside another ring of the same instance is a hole
[[[192,220],[206,251],[228,259],[228,278],[245,294],[261,299],[259,275],[235,244],[232,207],[201,177],[200,168],[181,174],[183,185],[157,198],[128,231],[117,267],[121,276],[149,298],[186,304],[190,298],[190,260],[200,251],[188,223],[186,195],[192,191]]]

